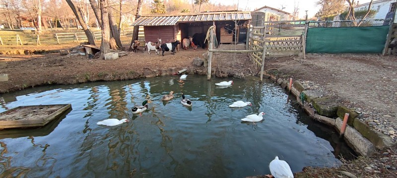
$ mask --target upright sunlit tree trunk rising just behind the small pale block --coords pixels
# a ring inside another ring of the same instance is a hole
[[[102,43],[101,43],[101,58],[105,58],[105,54],[110,52],[110,28],[109,28],[109,14],[107,0],[100,0],[101,19],[102,19]]]

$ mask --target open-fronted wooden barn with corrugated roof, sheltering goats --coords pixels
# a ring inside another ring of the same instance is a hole
[[[157,39],[161,39],[163,43],[170,43],[174,40],[182,42],[184,38],[200,35],[205,38],[208,28],[215,23],[218,44],[231,44],[236,42],[236,39],[238,43],[245,43],[250,20],[251,12],[246,11],[145,14],[132,26],[144,27],[146,43],[157,42]],[[193,40],[203,41],[201,37]],[[203,46],[206,47],[204,44]]]

